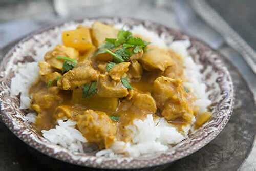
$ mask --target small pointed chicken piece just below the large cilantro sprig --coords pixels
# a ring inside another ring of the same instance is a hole
[[[122,62],[115,65],[110,71],[109,75],[114,81],[120,81],[123,74],[129,70],[130,62]]]

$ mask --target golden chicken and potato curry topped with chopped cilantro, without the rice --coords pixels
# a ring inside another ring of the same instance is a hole
[[[40,76],[29,90],[38,132],[71,119],[102,149],[131,141],[125,126],[148,114],[177,130],[193,118],[199,127],[211,117],[198,115],[196,97],[183,84],[183,60],[172,50],[100,22],[64,31],[62,41],[38,63]]]

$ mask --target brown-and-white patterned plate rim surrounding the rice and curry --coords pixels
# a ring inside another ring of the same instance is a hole
[[[173,40],[189,39],[191,42],[189,54],[196,63],[200,63],[203,66],[201,73],[207,85],[207,94],[212,101],[211,109],[213,117],[211,120],[168,151],[137,158],[107,158],[96,157],[92,153],[74,153],[58,145],[51,144],[42,138],[25,119],[27,111],[19,109],[19,97],[10,97],[10,82],[14,76],[13,69],[17,67],[19,62],[31,62],[31,56],[36,55],[36,48],[42,46],[50,47],[52,40],[58,38],[62,29],[76,24],[89,24],[94,20],[100,20],[107,24],[125,23],[127,26],[143,25],[148,30],[162,35],[166,44],[170,44]],[[0,116],[3,122],[18,138],[48,156],[69,163],[95,168],[134,169],[151,167],[170,163],[188,156],[205,146],[222,131],[230,118],[234,103],[232,80],[219,53],[216,53],[201,41],[191,38],[180,31],[154,22],[131,18],[91,18],[61,24],[30,34],[18,42],[4,57],[0,65],[0,82]]]

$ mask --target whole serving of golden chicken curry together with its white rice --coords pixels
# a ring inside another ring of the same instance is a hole
[[[211,118],[189,40],[167,46],[143,26],[122,27],[94,22],[62,31],[43,60],[18,69],[12,94],[21,93],[20,107],[35,113],[33,125],[50,142],[136,157],[172,148]]]

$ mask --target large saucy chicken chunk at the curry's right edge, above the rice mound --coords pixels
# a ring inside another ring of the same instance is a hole
[[[185,91],[181,79],[158,77],[154,81],[153,97],[167,120],[182,118],[191,122],[193,98]]]

